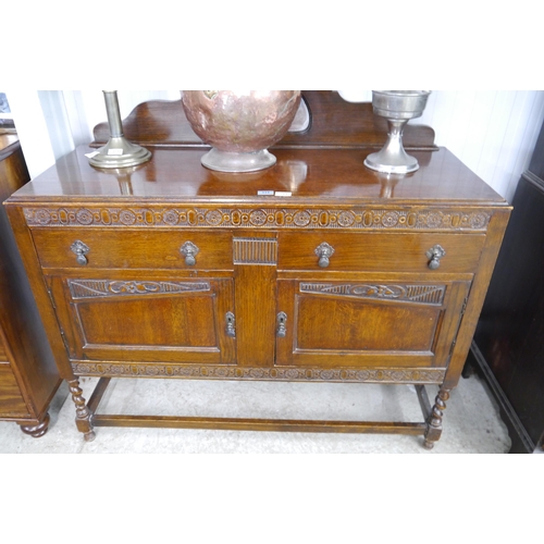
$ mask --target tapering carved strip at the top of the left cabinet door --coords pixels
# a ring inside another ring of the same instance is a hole
[[[210,290],[208,282],[140,282],[118,280],[69,280],[72,298],[120,295],[157,295]]]

